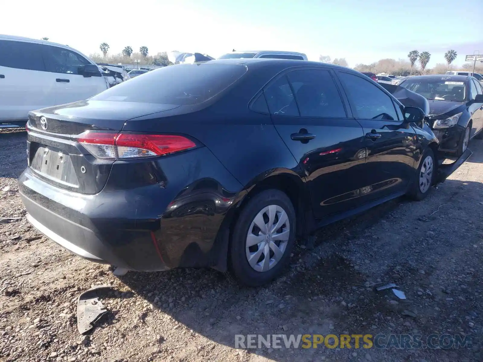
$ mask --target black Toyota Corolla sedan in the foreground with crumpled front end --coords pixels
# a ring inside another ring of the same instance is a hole
[[[421,200],[468,158],[439,167],[423,117],[338,66],[169,66],[30,112],[19,190],[32,225],[91,261],[210,266],[260,285],[296,239],[400,195]]]

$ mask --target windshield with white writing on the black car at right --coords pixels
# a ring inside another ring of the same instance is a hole
[[[418,93],[430,100],[447,100],[463,102],[466,99],[466,84],[464,81],[452,81],[446,77],[434,78],[409,78],[402,87]]]

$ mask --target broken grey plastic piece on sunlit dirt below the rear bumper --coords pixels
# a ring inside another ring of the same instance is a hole
[[[94,328],[94,323],[107,313],[106,308],[99,301],[98,289],[113,288],[111,285],[96,285],[79,295],[77,301],[77,329],[85,334]]]

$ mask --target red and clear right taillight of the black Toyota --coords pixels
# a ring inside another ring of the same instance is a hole
[[[196,147],[195,142],[183,136],[113,131],[86,131],[77,141],[102,160],[164,156]]]

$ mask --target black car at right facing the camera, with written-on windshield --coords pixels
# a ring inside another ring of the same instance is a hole
[[[483,88],[467,75],[418,75],[400,86],[429,101],[429,120],[440,151],[461,155],[473,137],[483,139]]]

